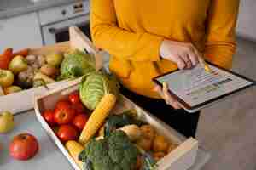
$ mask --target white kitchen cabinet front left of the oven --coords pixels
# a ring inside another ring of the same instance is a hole
[[[0,53],[4,48],[35,48],[42,46],[37,13],[0,20]]]

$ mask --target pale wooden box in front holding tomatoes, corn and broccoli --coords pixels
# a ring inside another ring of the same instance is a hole
[[[40,95],[35,98],[35,111],[38,118],[38,122],[41,123],[45,131],[49,134],[50,138],[55,142],[57,147],[61,150],[62,154],[66,156],[67,161],[71,163],[74,169],[81,170],[80,167],[73,161],[72,156],[69,155],[65,146],[61,143],[61,140],[55,135],[55,132],[45,122],[42,114],[46,110],[53,110],[57,101],[61,99],[67,99],[68,94],[72,94],[79,89],[79,80],[69,83],[66,87],[58,87],[55,90],[49,91],[44,95]],[[195,158],[198,150],[198,141],[193,138],[183,139],[180,135],[174,131],[171,127],[168,127],[164,122],[161,122],[155,116],[152,116],[147,111],[144,111],[139,106],[135,105],[131,100],[125,98],[125,96],[119,97],[115,107],[111,111],[112,114],[118,114],[122,111],[136,110],[138,118],[144,122],[148,122],[149,125],[154,127],[157,133],[163,135],[177,145],[176,149],[169,152],[165,157],[161,158],[157,162],[158,170],[187,170],[195,163]]]

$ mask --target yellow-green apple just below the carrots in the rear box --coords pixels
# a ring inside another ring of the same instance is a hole
[[[21,56],[17,55],[14,59],[11,60],[9,63],[8,70],[12,71],[15,75],[21,71],[26,71],[27,69],[27,62],[26,59]]]

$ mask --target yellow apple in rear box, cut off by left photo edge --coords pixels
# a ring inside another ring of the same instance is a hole
[[[8,88],[13,84],[15,76],[11,71],[0,69],[0,86],[2,88]]]

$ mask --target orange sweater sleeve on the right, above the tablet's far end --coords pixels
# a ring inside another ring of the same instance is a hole
[[[207,17],[205,56],[213,64],[230,69],[236,52],[236,20],[239,0],[211,0]]]

